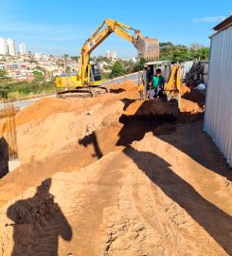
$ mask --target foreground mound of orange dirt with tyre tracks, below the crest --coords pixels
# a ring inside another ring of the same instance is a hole
[[[199,123],[183,125],[170,135],[148,133],[80,170],[52,175],[50,187],[29,188],[0,208],[4,252],[226,255],[231,191],[222,156],[211,147]]]

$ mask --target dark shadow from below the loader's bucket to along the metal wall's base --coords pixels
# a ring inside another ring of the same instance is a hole
[[[134,116],[136,116],[136,113]],[[203,121],[203,119],[204,113],[192,114],[190,112],[180,113],[176,121],[171,121],[169,118],[127,119],[125,115],[122,115],[120,122],[124,125],[118,133],[119,139],[116,145],[127,146],[134,140],[142,139],[148,132],[152,132],[154,136],[167,135],[176,131],[178,123],[186,123],[186,125],[188,123],[187,133],[181,134],[177,138],[165,136],[160,138],[187,154],[210,171],[223,175],[228,180],[232,180],[232,172],[227,167],[223,155],[219,153],[211,138],[203,132],[202,122],[200,122],[201,128],[192,125],[193,122]],[[217,165],[215,165],[215,156],[218,159]]]

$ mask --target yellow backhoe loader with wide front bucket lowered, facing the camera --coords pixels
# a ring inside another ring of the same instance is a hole
[[[160,96],[149,99],[152,76],[161,69],[164,88]],[[140,101],[135,101],[128,118],[165,118],[177,119],[181,106],[180,65],[171,65],[170,61],[149,62],[144,65],[141,83],[138,84]]]

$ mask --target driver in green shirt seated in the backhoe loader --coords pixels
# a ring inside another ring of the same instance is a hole
[[[149,99],[159,98],[162,96],[164,89],[164,77],[162,76],[161,69],[157,68],[155,75],[152,76],[152,90],[149,94]]]

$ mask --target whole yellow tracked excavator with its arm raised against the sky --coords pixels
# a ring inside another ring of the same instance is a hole
[[[130,31],[134,31],[134,35]],[[104,20],[81,47],[78,75],[69,76],[64,74],[56,78],[57,87],[65,88],[65,91],[58,93],[58,97],[94,97],[108,92],[107,87],[101,85],[102,79],[98,64],[90,62],[90,54],[113,32],[132,43],[146,60],[159,59],[159,42],[156,38],[144,37],[140,30],[115,20]]]

